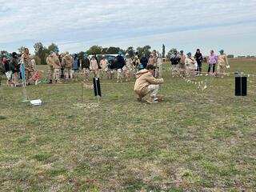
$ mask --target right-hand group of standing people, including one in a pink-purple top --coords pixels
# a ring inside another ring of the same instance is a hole
[[[193,57],[191,52],[185,55],[183,50],[180,52],[174,50],[174,54],[170,57],[172,75],[202,75],[202,62],[205,61],[209,65],[206,75],[219,75],[223,78],[226,74],[226,69],[230,68],[230,65],[224,50],[220,50],[219,53],[217,55],[214,54],[214,50],[210,50],[209,56],[203,57],[201,51],[198,49]]]

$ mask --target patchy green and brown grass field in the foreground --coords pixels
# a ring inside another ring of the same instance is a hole
[[[256,61],[231,71],[256,74]],[[165,68],[167,65],[165,66]],[[255,191],[256,78],[206,90],[164,74],[164,102],[138,103],[134,82],[102,81],[100,105],[81,84],[0,88],[1,191]]]

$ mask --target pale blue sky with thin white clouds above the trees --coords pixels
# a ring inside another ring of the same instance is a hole
[[[256,54],[255,0],[0,0],[0,50],[35,42]]]

